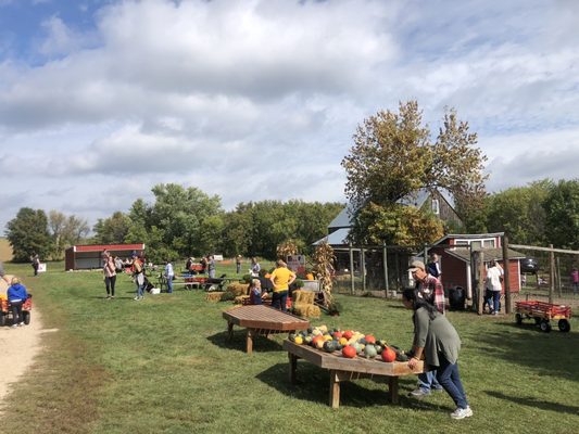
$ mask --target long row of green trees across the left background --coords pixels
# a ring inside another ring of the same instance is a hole
[[[261,201],[240,203],[225,212],[217,195],[175,183],[152,188],[153,203],[138,199],[128,212],[117,210],[89,226],[75,216],[22,208],[7,226],[13,260],[33,253],[60,260],[74,244],[144,243],[153,261],[219,253],[276,258],[276,247],[291,240],[300,252],[327,234],[328,224],[342,209],[340,203]]]

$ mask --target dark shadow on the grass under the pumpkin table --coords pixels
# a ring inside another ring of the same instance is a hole
[[[292,398],[329,405],[329,371],[315,365],[298,362],[295,384],[291,384],[289,381],[289,362],[274,365],[260,372],[255,378]],[[392,404],[386,376],[374,376],[373,379],[356,380],[356,382],[343,381],[340,383],[340,407],[397,406],[424,410],[440,409],[432,403],[407,397],[407,393],[415,385],[416,379],[414,376],[400,378],[399,403]]]

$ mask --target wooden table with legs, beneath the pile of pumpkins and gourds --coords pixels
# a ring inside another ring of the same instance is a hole
[[[388,378],[388,388],[390,391],[390,401],[398,404],[398,378],[401,375],[415,375],[424,370],[424,362],[420,361],[415,369],[408,368],[407,361],[393,361],[387,363],[381,359],[365,359],[356,357],[345,358],[341,352],[325,353],[311,346],[298,345],[290,341],[284,341],[284,349],[288,352],[291,383],[295,383],[295,368],[298,359],[302,358],[309,362],[330,371],[330,395],[329,405],[332,408],[340,406],[340,382],[353,381],[362,378],[382,375]]]

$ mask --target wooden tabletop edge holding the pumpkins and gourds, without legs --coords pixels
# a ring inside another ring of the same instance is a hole
[[[390,376],[413,375],[424,371],[424,361],[419,361],[416,368],[410,369],[407,361],[386,362],[379,357],[376,359],[363,357],[349,359],[343,357],[341,352],[326,353],[307,345],[298,345],[288,340],[284,341],[284,349],[325,369]]]

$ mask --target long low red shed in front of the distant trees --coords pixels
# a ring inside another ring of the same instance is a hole
[[[66,270],[91,270],[102,268],[102,252],[108,250],[111,255],[122,259],[129,258],[135,252],[138,255],[144,253],[144,244],[92,244],[73,245],[66,248],[64,255],[64,269]]]

